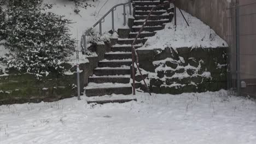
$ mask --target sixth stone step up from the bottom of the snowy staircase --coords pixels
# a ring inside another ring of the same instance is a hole
[[[108,52],[105,53],[106,59],[128,59],[131,58],[131,52]]]

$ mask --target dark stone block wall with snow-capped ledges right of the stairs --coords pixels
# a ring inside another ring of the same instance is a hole
[[[226,47],[137,50],[153,93],[219,91],[226,88]],[[139,76],[137,87],[145,90]]]

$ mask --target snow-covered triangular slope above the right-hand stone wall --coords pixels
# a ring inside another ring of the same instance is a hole
[[[228,44],[220,38],[209,26],[196,17],[183,11],[189,25],[184,21],[177,9],[177,27],[174,20],[167,23],[165,29],[158,31],[154,37],[148,38],[139,50],[165,49],[166,47],[226,47]]]

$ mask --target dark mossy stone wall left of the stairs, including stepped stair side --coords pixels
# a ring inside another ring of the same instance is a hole
[[[98,61],[104,59],[104,53],[110,50],[110,43],[92,47],[97,57],[88,57],[89,63],[80,64],[80,89],[88,84],[88,77],[93,74]],[[48,76],[36,76],[9,70],[6,74],[0,73],[0,105],[40,103],[40,101],[57,101],[77,96],[76,65],[65,63],[62,65],[68,73],[64,75],[50,73]]]

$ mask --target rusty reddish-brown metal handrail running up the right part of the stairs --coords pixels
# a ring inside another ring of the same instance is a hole
[[[136,64],[137,69],[139,70],[139,74],[141,75],[141,78],[142,78],[142,80],[143,80],[143,82],[144,82],[145,87],[147,88],[149,94],[151,95],[151,93],[150,93],[150,91],[149,91],[149,88],[148,88],[148,86],[147,86],[147,83],[145,82],[145,79],[144,79],[144,77],[143,77],[143,75],[142,75],[142,73],[141,73],[141,69],[139,69],[139,67],[138,67],[138,54],[137,54],[136,49],[135,49],[135,47],[134,47],[134,45],[136,44],[136,40],[138,39],[139,35],[140,35],[141,32],[143,31],[143,28],[146,26],[146,23],[148,22],[148,19],[149,19],[150,15],[151,15],[152,11],[153,11],[154,9],[158,8],[158,7],[162,7],[162,6],[164,6],[164,5],[171,4],[171,3],[173,3],[174,1],[175,1],[175,0],[168,0],[168,2],[159,4],[159,5],[156,5],[155,7],[153,7],[153,8],[150,10],[150,12],[149,12],[149,14],[148,14],[148,16],[147,16],[147,19],[144,21],[144,23],[143,23],[141,29],[139,29],[139,32],[138,32],[138,34],[137,34],[135,40],[133,40],[133,42],[132,42],[132,44],[131,44],[131,47],[132,47],[132,87],[133,87],[133,95],[135,95],[135,67],[134,67],[135,65],[134,65],[134,63]],[[135,56],[136,56],[136,61],[135,61]]]

